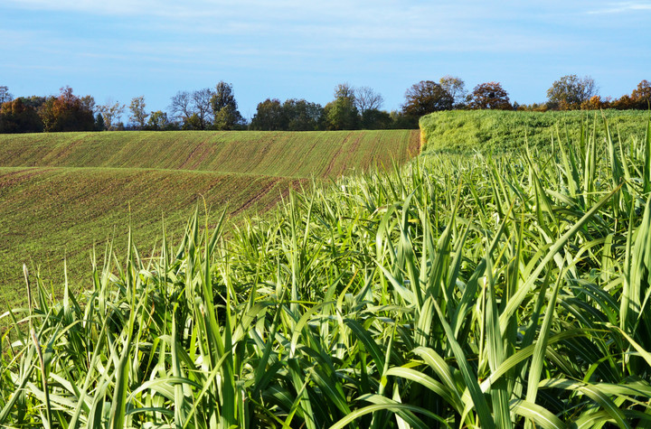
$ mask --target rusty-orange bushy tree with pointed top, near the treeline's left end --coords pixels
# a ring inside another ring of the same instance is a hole
[[[46,132],[92,131],[95,129],[93,112],[72,93],[71,87],[61,88],[58,98],[48,98],[39,108]]]

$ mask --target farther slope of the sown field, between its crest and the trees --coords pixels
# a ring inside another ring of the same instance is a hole
[[[0,166],[109,167],[335,177],[419,153],[412,130],[0,135]]]

